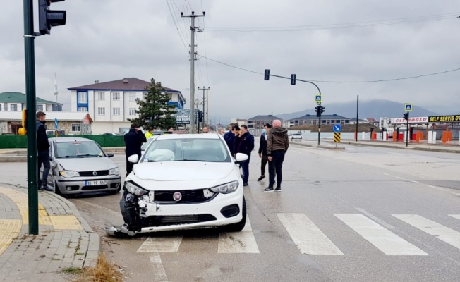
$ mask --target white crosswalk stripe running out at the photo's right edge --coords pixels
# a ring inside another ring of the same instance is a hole
[[[460,249],[459,231],[455,231],[454,229],[443,226],[442,224],[436,223],[430,219],[425,219],[425,217],[419,216],[418,214],[392,214],[392,216],[411,224],[411,226],[416,227],[425,233],[435,235],[438,239],[444,241],[445,243]]]

